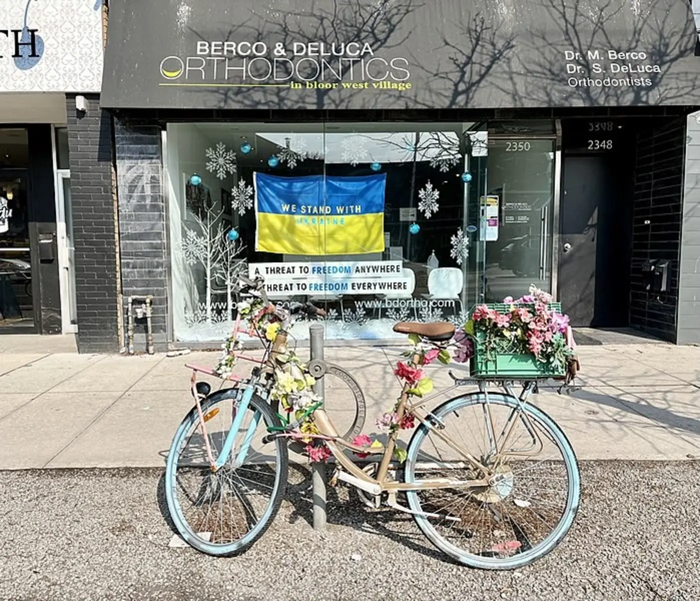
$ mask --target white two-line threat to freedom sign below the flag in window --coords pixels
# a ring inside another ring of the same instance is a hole
[[[307,296],[410,293],[401,261],[251,263],[248,276],[265,278],[269,294]]]

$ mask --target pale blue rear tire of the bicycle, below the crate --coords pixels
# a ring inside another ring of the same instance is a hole
[[[449,413],[453,413],[456,410],[476,405],[477,403],[484,404],[485,402],[486,395],[483,392],[472,392],[470,394],[456,396],[453,399],[449,399],[448,401],[442,403],[442,405],[435,408],[432,414],[438,419],[442,420],[442,417]],[[492,404],[505,405],[513,409],[521,407],[519,401],[517,401],[517,399],[515,399],[513,396],[502,393],[489,393],[488,402]],[[414,513],[413,517],[416,521],[416,525],[418,525],[421,532],[428,537],[430,542],[439,548],[440,551],[446,553],[451,558],[454,558],[463,565],[476,567],[479,569],[500,570],[516,569],[518,567],[528,565],[529,563],[544,557],[547,555],[547,553],[552,551],[552,549],[554,549],[554,547],[556,547],[556,545],[559,544],[559,542],[561,542],[563,537],[566,535],[571,524],[573,523],[573,519],[575,518],[580,501],[580,472],[573,448],[571,447],[568,438],[566,438],[563,431],[561,431],[554,420],[552,420],[552,418],[549,417],[549,415],[547,415],[544,411],[528,403],[524,405],[524,410],[531,420],[538,422],[540,426],[545,426],[545,428],[549,431],[549,436],[552,436],[554,443],[561,450],[568,476],[566,508],[559,520],[559,523],[557,523],[552,532],[549,532],[542,543],[538,544],[530,551],[519,553],[517,555],[511,555],[508,558],[498,559],[483,557],[461,551],[437,533],[435,527],[433,527],[433,525],[430,523],[429,518]],[[404,469],[404,481],[407,483],[414,482],[416,459],[418,457],[421,443],[423,440],[425,440],[427,434],[428,428],[425,426],[425,424],[421,424],[414,431],[414,434],[409,441]],[[418,492],[408,491],[406,494],[410,509],[415,512],[422,511]]]

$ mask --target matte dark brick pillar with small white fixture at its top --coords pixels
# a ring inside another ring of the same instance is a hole
[[[77,113],[66,95],[75,243],[78,351],[117,352],[118,277],[114,222],[111,118],[98,95]]]

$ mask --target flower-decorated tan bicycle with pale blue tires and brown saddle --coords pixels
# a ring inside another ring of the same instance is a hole
[[[454,344],[454,326],[401,323],[394,330],[408,334],[413,347],[409,363],[398,370],[405,382],[385,444],[370,443],[368,437],[361,444],[358,438],[346,440],[316,399],[284,423],[268,402],[271,390],[279,386],[269,369],[256,367],[246,382],[209,396],[193,384],[195,407],[174,436],[166,469],[167,504],[188,544],[209,555],[237,555],[262,536],[284,496],[288,440],[311,441],[307,448],[312,450],[327,449],[336,461],[331,485],[343,481],[363,491],[375,506],[386,502],[412,514],[423,534],[463,565],[513,569],[549,553],[561,541],[577,511],[580,474],[561,429],[527,402],[538,392],[538,380],[522,382],[522,392],[515,396],[514,382],[460,379],[450,372],[454,388],[477,385],[478,392],[426,410],[430,397],[421,396],[430,391],[421,390],[423,380],[416,378],[428,353],[435,357],[435,352],[443,354]],[[284,353],[283,328],[271,343],[269,357]],[[489,392],[489,384],[503,392]],[[455,424],[471,413],[479,419]],[[207,423],[217,416],[225,418],[225,425],[207,431]],[[407,449],[398,453],[400,429],[414,427],[416,421]],[[516,436],[519,425],[524,432]],[[474,436],[475,429],[479,436]],[[183,455],[190,431],[195,440],[192,455]],[[484,448],[467,448],[468,434],[479,438]],[[543,453],[545,444],[554,450],[551,455]],[[362,469],[344,450],[381,459]],[[395,456],[400,469],[391,468]],[[197,474],[201,481],[193,492],[186,492],[185,481]],[[558,490],[542,490],[548,485]],[[407,505],[399,503],[399,494],[405,495]],[[181,499],[192,507],[184,509]]]

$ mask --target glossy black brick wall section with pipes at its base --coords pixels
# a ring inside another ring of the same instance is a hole
[[[164,350],[168,269],[160,128],[116,119],[115,145],[124,315],[130,296],[153,295],[154,340]],[[146,348],[145,331],[137,323],[137,352]]]

